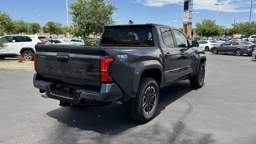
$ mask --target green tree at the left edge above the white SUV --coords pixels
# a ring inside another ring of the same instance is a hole
[[[10,34],[14,32],[14,21],[6,12],[0,10],[0,25],[4,27],[5,32]]]

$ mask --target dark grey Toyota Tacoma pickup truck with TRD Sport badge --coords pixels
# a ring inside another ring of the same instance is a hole
[[[206,56],[198,46],[169,26],[105,26],[99,46],[36,45],[34,87],[60,106],[121,101],[132,118],[146,122],[156,113],[160,88],[187,79],[193,88],[203,86]]]

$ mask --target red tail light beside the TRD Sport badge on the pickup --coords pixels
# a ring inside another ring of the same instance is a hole
[[[110,64],[114,62],[113,56],[101,56],[100,57],[100,81],[112,82],[113,79],[110,76]]]

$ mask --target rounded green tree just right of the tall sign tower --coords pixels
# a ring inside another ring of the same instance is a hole
[[[222,27],[216,25],[215,20],[204,19],[202,23],[196,22],[196,34],[201,36],[219,36],[222,34]]]

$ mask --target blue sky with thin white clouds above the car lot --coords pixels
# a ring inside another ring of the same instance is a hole
[[[74,0],[69,0],[73,2]],[[178,20],[175,27],[182,28],[184,0],[112,0],[118,7],[118,20],[128,23],[133,20],[135,23],[158,23],[166,24],[172,18]],[[236,20],[244,22],[249,20],[251,0],[218,0],[224,2],[220,6],[218,24],[227,24],[231,27],[234,18],[246,16]],[[255,1],[255,0],[254,0]],[[196,15],[196,21],[204,18],[216,20],[217,6],[213,3],[217,0],[194,0],[193,12],[200,12]],[[38,22],[41,24],[39,14],[43,14],[43,24],[52,20],[66,25],[66,0],[4,0],[0,9],[10,14],[14,19],[22,19],[27,22]],[[256,2],[252,5],[252,20],[256,19]],[[194,20],[194,16],[193,16]],[[194,24],[193,24],[194,26]]]

